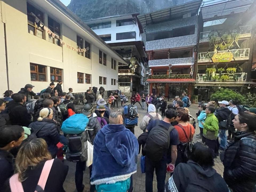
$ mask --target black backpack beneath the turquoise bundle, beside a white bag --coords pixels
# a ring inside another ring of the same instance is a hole
[[[89,138],[88,131],[83,131],[80,134],[69,134],[69,146],[66,151],[66,158],[71,162],[87,161],[87,139]]]

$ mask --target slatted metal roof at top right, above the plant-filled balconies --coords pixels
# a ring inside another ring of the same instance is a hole
[[[225,18],[230,14],[246,12],[254,0],[209,0],[201,6],[203,21]]]

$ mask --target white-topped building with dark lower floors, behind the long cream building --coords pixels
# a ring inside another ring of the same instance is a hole
[[[145,46],[142,41],[142,25],[138,13],[115,15],[85,21],[91,29],[108,43],[128,65],[118,63],[118,89],[126,93],[140,92],[145,86]],[[130,65],[134,58],[136,64]],[[136,67],[134,67],[136,66]]]

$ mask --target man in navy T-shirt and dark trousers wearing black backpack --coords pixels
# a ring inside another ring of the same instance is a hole
[[[147,126],[146,131],[149,132],[149,135],[143,148],[146,155],[145,185],[147,192],[153,192],[154,170],[157,176],[157,191],[165,191],[167,167],[170,165],[174,167],[177,158],[179,136],[177,130],[171,125],[176,117],[177,112],[174,109],[168,109],[162,121],[154,120]],[[171,159],[167,155],[169,151],[171,151]]]

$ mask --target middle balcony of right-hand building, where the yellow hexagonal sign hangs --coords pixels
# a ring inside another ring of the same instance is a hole
[[[231,61],[244,61],[249,60],[249,53],[250,49],[231,49],[231,50],[224,50],[224,51],[211,51],[211,52],[203,52],[198,53],[198,63],[211,63],[213,62],[212,58],[215,53],[232,53],[233,58]],[[225,57],[225,56],[224,56]],[[226,59],[226,58],[223,58]],[[219,62],[228,62],[228,61],[219,61]]]

